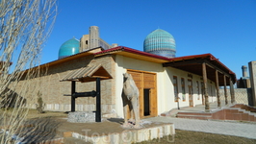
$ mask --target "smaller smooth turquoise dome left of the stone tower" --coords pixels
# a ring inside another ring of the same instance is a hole
[[[71,38],[64,42],[59,49],[59,59],[79,53],[80,42],[76,38]]]

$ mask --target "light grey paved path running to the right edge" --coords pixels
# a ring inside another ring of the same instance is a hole
[[[210,132],[256,139],[256,123],[197,120],[174,117],[153,117],[143,120],[174,123],[174,128],[178,130]]]

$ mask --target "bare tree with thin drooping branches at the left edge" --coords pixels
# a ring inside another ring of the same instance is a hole
[[[26,81],[18,93],[15,87],[21,79],[38,76],[39,67],[32,67],[39,63],[56,15],[56,0],[0,0],[0,143],[10,143],[26,117],[26,99],[34,95],[27,91],[35,85]]]

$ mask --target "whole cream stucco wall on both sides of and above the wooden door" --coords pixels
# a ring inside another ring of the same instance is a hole
[[[173,84],[172,84],[173,76],[177,76],[178,78],[178,91],[179,91],[180,98],[182,98],[181,78],[185,79],[186,101],[180,100],[179,105],[180,107],[189,107],[188,79],[191,79],[188,77],[189,72],[171,68],[171,67],[163,67],[162,63],[135,60],[135,59],[119,56],[119,55],[115,57],[115,61],[116,61],[115,63],[115,69],[116,69],[115,108],[116,108],[117,116],[123,117],[122,100],[121,100],[121,89],[123,85],[122,74],[126,72],[127,69],[141,70],[141,71],[153,72],[157,74],[157,95],[158,95],[158,114],[159,115],[172,108],[177,108],[177,102],[174,101],[174,92],[173,92]],[[196,81],[199,82],[199,95],[196,92],[196,84],[195,84]],[[200,85],[201,81],[202,81],[201,76],[192,74],[193,106],[202,104],[201,85]],[[210,103],[216,101],[216,86],[214,82],[208,80],[209,91],[211,86],[212,86],[213,92],[209,93]]]

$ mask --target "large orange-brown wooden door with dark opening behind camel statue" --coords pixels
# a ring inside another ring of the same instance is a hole
[[[140,117],[157,116],[156,74],[128,70],[140,91]]]

